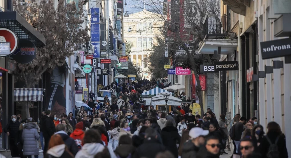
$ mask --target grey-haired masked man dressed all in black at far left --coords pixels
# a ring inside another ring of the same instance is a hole
[[[17,141],[18,141],[18,128],[20,126],[20,122],[17,121],[16,115],[11,116],[11,120],[6,125],[6,127],[3,129],[4,132],[9,136],[9,145],[10,145],[10,151],[12,157],[19,157],[19,153],[17,150]]]

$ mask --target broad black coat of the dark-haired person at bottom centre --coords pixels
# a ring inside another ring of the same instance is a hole
[[[133,158],[154,158],[159,152],[166,151],[166,147],[155,138],[144,139],[143,144],[136,149]]]

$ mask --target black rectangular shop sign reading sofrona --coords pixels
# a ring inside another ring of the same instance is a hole
[[[260,43],[262,59],[278,58],[281,56],[291,55],[291,38]]]

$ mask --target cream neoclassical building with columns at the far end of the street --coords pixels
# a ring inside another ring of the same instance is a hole
[[[147,58],[156,43],[155,36],[162,34],[164,21],[161,16],[144,9],[124,17],[124,40],[133,44],[129,59],[141,67],[141,76],[148,79],[150,75],[147,72]]]

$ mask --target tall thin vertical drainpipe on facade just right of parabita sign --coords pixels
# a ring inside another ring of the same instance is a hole
[[[240,27],[240,22],[242,21],[241,15],[239,15],[239,27]],[[240,33],[241,29],[238,29],[238,38],[237,38],[237,44],[238,44],[238,100],[239,100],[239,113],[242,115],[242,49],[241,49],[241,41],[240,41]]]

